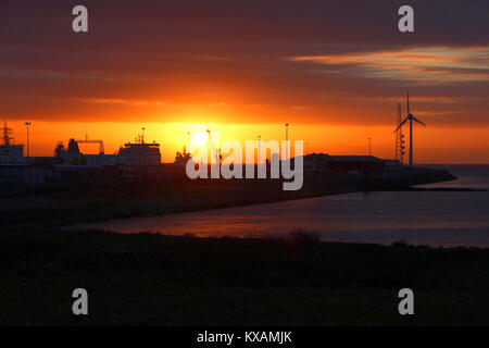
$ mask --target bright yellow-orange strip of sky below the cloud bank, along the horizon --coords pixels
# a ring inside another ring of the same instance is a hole
[[[16,144],[26,144],[24,122],[10,122],[14,128]],[[281,124],[186,124],[186,123],[53,123],[33,122],[29,128],[30,154],[52,156],[58,141],[67,144],[70,138],[84,139],[88,134],[90,139],[102,139],[105,153],[114,153],[125,142],[134,141],[140,129],[145,127],[145,139],[161,144],[162,161],[173,162],[176,151],[181,151],[188,144],[188,133],[192,141],[204,141],[209,146],[206,129],[213,134],[218,132],[221,144],[233,139],[244,149],[246,140],[262,141],[271,139],[284,140],[285,127]],[[403,128],[408,134],[408,127]],[[389,126],[355,126],[355,125],[306,125],[291,124],[290,140],[303,140],[304,152],[323,152],[329,154],[367,154],[368,138],[372,137],[373,154],[379,158],[393,158],[393,127]],[[427,127],[414,128],[414,159],[416,163],[489,163],[488,127],[440,128],[428,124]],[[435,140],[434,140],[435,139]],[[197,145],[197,144],[196,144]],[[406,137],[406,149],[409,142]],[[293,147],[293,146],[292,146]],[[80,145],[84,153],[97,153],[98,147]],[[223,153],[223,156],[226,156]],[[454,160],[455,159],[455,160]],[[462,160],[460,160],[462,159]]]

